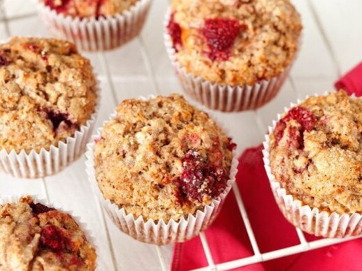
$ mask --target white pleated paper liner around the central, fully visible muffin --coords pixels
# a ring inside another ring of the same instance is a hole
[[[140,97],[139,99],[146,101],[150,98],[154,98],[154,96],[147,98]],[[113,119],[115,115],[115,113],[111,115],[110,119]],[[102,128],[98,129],[96,135],[92,138],[94,140],[100,138],[101,132]],[[133,214],[126,214],[124,208],[120,208],[114,203],[111,203],[110,200],[103,198],[98,182],[96,181],[94,169],[94,145],[94,142],[89,143],[85,154],[87,157],[87,174],[94,193],[99,198],[101,205],[103,205],[104,210],[106,210],[117,228],[122,230],[122,232],[131,235],[131,237],[136,240],[151,244],[163,245],[173,242],[184,242],[208,228],[217,217],[217,214],[219,214],[220,208],[222,207],[233,182],[235,182],[236,173],[238,172],[238,159],[235,158],[235,152],[233,152],[234,157],[231,163],[230,178],[227,182],[226,189],[218,198],[213,199],[210,205],[205,206],[203,210],[198,210],[194,215],[189,214],[187,218],[182,218],[180,221],[171,219],[166,222],[162,219],[159,221],[149,219],[145,222],[142,216],[133,217]]]

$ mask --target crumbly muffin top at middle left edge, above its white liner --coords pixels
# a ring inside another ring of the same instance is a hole
[[[75,45],[12,38],[0,45],[0,149],[49,149],[73,136],[96,105],[96,79]]]

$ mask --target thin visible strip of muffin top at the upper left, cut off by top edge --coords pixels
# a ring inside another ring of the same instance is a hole
[[[71,17],[106,17],[129,10],[139,0],[40,0],[59,14]]]

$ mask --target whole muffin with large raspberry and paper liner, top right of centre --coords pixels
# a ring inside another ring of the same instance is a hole
[[[187,94],[212,109],[239,111],[277,94],[301,30],[289,0],[174,0],[165,38]]]

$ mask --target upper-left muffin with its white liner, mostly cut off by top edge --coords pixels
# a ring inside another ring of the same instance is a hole
[[[82,50],[110,50],[138,36],[152,0],[36,0],[50,32]]]

